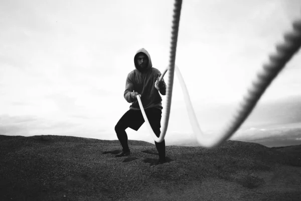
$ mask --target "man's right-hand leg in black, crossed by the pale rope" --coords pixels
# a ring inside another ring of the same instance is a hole
[[[154,133],[157,137],[160,137],[162,110],[157,108],[147,109],[147,111],[145,111],[145,114]],[[159,161],[162,163],[165,162],[165,140],[163,140],[162,142],[155,141],[155,145],[159,153]]]

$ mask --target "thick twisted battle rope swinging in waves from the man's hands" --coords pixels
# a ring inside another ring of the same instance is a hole
[[[166,105],[166,116],[163,125],[163,131],[158,138],[153,132],[152,127],[150,127],[143,106],[141,103],[140,96],[137,96],[139,107],[141,109],[143,118],[147,125],[148,130],[152,134],[152,137],[156,142],[162,142],[165,138],[166,131],[169,123],[172,93],[173,93],[173,83],[174,83],[174,71],[176,69],[177,76],[180,80],[182,91],[184,93],[184,100],[186,108],[189,114],[190,123],[192,125],[194,134],[198,143],[207,148],[214,148],[220,146],[226,140],[228,140],[242,125],[249,114],[252,112],[256,106],[261,95],[264,93],[266,88],[270,85],[272,80],[278,75],[278,73],[284,68],[285,64],[291,59],[291,57],[298,51],[301,46],[301,20],[297,20],[292,23],[293,30],[289,33],[284,34],[284,42],[282,44],[276,45],[276,52],[269,56],[268,63],[264,64],[262,69],[256,74],[255,79],[252,81],[251,86],[247,89],[245,95],[243,95],[242,101],[239,104],[236,113],[234,113],[230,122],[221,130],[218,135],[204,135],[201,131],[200,126],[197,122],[196,115],[194,113],[188,90],[186,88],[184,79],[181,75],[179,68],[175,68],[176,59],[176,49],[178,40],[178,30],[181,15],[182,1],[176,0],[174,4],[174,15],[173,15],[173,25],[172,25],[172,37],[171,37],[171,50],[170,50],[170,63],[169,67],[162,73],[160,79],[163,78],[165,73],[168,71],[168,87],[167,87],[167,105]]]

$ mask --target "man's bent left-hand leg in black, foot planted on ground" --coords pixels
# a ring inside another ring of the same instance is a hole
[[[117,122],[117,124],[115,126],[115,132],[116,132],[117,138],[122,146],[122,152],[126,152],[129,154],[129,147],[127,144],[127,134],[125,132],[125,129],[131,128],[131,129],[137,131],[144,122],[142,114],[141,115],[139,115],[139,114],[141,114],[141,111],[128,110],[120,118],[120,120]],[[120,156],[123,156],[123,155],[124,154],[121,154]]]

